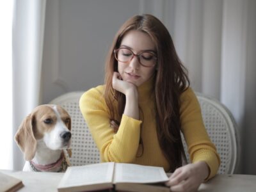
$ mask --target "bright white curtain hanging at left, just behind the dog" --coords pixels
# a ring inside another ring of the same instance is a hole
[[[46,0],[15,1],[13,15],[13,136],[23,118],[40,104]],[[13,142],[13,169],[24,158]]]

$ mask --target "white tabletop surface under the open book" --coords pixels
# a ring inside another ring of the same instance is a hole
[[[15,172],[0,170],[13,177],[21,179],[24,187],[19,192],[51,192],[57,191],[57,186],[63,173],[42,173],[42,172]],[[201,184],[200,192],[255,192],[256,175],[216,175],[207,183]]]

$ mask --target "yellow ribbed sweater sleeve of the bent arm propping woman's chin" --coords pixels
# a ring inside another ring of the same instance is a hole
[[[109,109],[102,89],[102,86],[98,86],[81,96],[81,113],[100,150],[101,161],[131,163],[139,146],[141,121],[123,115],[115,133],[110,126]]]

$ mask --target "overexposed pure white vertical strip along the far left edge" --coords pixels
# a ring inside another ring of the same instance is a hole
[[[12,12],[13,1],[0,2],[1,76],[0,169],[12,168]]]

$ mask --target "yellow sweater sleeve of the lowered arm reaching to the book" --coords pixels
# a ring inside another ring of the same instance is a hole
[[[180,97],[180,120],[191,162],[205,161],[210,169],[207,179],[211,179],[218,172],[220,156],[205,130],[200,105],[191,88]]]

